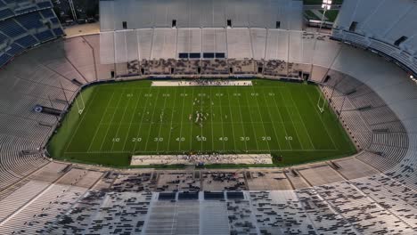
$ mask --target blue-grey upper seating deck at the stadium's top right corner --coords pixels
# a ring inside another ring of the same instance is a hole
[[[416,74],[416,10],[413,0],[346,0],[332,36],[396,60]]]

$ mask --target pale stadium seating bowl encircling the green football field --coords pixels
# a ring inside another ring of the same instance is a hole
[[[1,233],[416,233],[415,1],[345,0],[331,35],[302,27],[301,1],[101,1],[100,35],[54,41],[61,26],[39,6],[50,11],[50,2],[27,4],[22,20],[21,4],[0,0],[9,12],[0,58],[21,53],[0,71]],[[305,166],[176,171],[45,157],[83,87],[160,76],[307,78],[360,152]]]

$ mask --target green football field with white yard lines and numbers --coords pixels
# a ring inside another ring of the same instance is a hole
[[[288,166],[355,153],[331,109],[317,108],[316,85],[252,82],[160,87],[144,80],[88,87],[48,151],[53,158],[107,166],[129,166],[131,156],[140,154],[272,153],[276,166]]]

